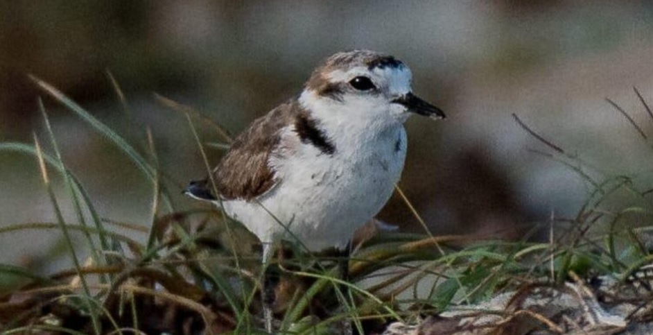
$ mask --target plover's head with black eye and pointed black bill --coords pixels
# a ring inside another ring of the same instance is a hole
[[[415,113],[443,119],[442,110],[412,93],[411,80],[408,66],[391,55],[367,50],[336,53],[315,69],[300,101],[320,114],[343,114],[331,117],[389,117],[403,122]]]

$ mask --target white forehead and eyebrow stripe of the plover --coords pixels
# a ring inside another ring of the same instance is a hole
[[[366,66],[351,67],[349,69],[336,69],[331,71],[326,78],[331,83],[348,83],[349,80],[358,76],[366,76],[372,79],[372,82],[378,89],[388,94],[406,94],[411,91],[410,82],[412,72],[406,65],[397,67],[374,67],[369,69]]]

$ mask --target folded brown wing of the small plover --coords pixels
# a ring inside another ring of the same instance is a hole
[[[238,135],[214,169],[216,187],[223,199],[252,200],[277,182],[268,160],[281,139],[281,129],[295,119],[301,108],[295,99],[256,119]]]

